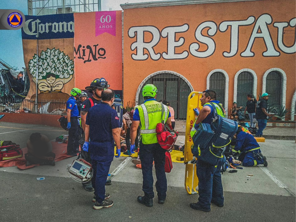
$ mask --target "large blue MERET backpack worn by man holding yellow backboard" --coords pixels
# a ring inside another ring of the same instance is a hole
[[[237,132],[238,125],[237,122],[218,115],[215,106],[210,104],[213,106],[213,122],[211,124],[200,123],[192,137],[191,152],[197,159],[217,165]]]

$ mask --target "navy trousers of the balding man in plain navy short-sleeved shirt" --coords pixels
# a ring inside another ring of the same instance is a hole
[[[112,163],[113,157],[109,156],[103,160],[97,158],[91,159],[91,166],[93,168],[93,176],[91,178],[91,184],[94,188],[94,195],[96,196],[96,202],[101,204],[105,199],[105,184],[107,181],[110,165]]]

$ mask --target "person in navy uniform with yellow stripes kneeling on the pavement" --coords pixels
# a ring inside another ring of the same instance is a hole
[[[233,153],[238,153],[239,161],[245,167],[263,164],[267,167],[266,157],[262,155],[260,146],[252,134],[242,131],[238,128],[237,133],[233,137],[234,148]]]

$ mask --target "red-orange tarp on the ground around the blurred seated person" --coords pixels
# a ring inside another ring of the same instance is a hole
[[[58,144],[57,142],[52,142],[52,152],[55,153],[56,155],[54,159],[55,162],[71,157],[67,155],[67,144],[65,143]],[[17,166],[17,168],[21,170],[25,170],[25,169],[32,168],[34,166],[39,166],[39,164],[36,164],[36,165],[30,165],[26,167],[27,160],[25,160],[25,154],[27,153],[27,147],[22,149],[22,153],[23,153],[22,158],[1,161],[0,167]]]

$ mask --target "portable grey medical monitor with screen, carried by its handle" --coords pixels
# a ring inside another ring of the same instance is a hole
[[[92,177],[91,165],[83,159],[74,160],[71,165],[67,165],[69,176],[75,181],[85,183]]]

